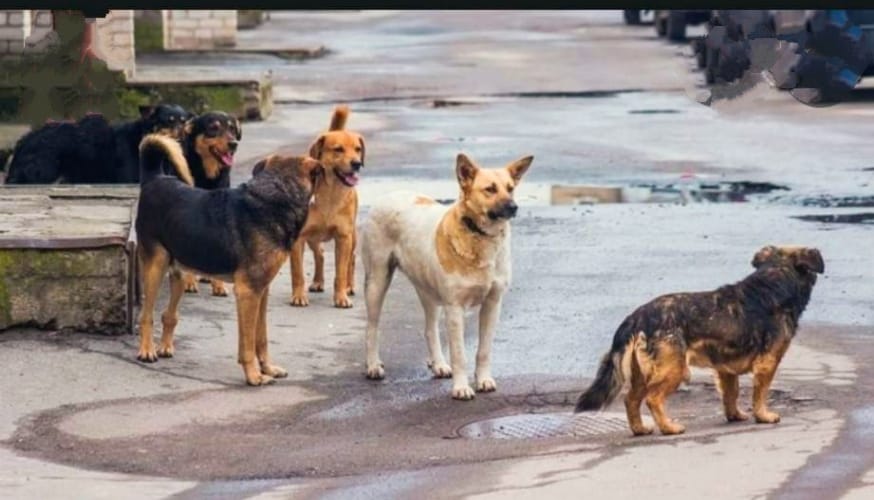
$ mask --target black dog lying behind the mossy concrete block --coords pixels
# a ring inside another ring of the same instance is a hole
[[[192,117],[177,105],[160,104],[140,106],[140,119],[117,125],[100,114],[49,122],[18,140],[6,183],[136,183],[143,137],[158,132],[181,139]]]

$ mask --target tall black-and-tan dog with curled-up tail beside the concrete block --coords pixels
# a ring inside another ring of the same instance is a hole
[[[185,270],[233,282],[238,360],[246,382],[263,385],[285,377],[287,372],[274,365],[267,352],[267,294],[306,221],[322,166],[308,157],[274,156],[247,183],[232,189],[200,189],[191,185],[192,175],[186,175],[189,165],[182,148],[160,135],[143,140],[140,163],[136,231],[144,300],[137,359],[154,362],[173,356]],[[166,169],[189,182],[162,175]],[[163,333],[156,349],[155,300],[168,268],[170,300],[161,315]]]

